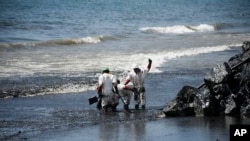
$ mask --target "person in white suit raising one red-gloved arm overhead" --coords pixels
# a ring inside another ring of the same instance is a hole
[[[142,109],[145,109],[146,105],[146,95],[145,95],[145,87],[144,80],[147,76],[151,68],[152,60],[148,59],[148,66],[146,69],[139,68],[138,65],[133,66],[133,71],[131,71],[125,80],[125,85],[132,82],[136,91],[134,92],[134,100],[135,100],[135,109],[139,109],[139,105],[141,104]]]

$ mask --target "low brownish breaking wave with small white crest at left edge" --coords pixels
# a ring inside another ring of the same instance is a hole
[[[19,43],[0,43],[0,48],[11,47],[26,47],[26,46],[51,46],[51,45],[74,45],[74,44],[97,44],[104,40],[112,39],[112,37],[95,36],[95,37],[83,37],[83,38],[70,38],[70,39],[58,39],[41,42],[19,42]]]

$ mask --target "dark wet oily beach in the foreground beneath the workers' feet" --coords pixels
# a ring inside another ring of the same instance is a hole
[[[231,124],[250,124],[237,117],[168,117],[161,106],[126,113],[103,113],[88,105],[92,91],[0,100],[0,140],[229,140]],[[131,107],[133,103],[131,104]]]

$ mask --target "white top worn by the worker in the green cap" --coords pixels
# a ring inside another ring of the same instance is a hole
[[[102,85],[102,94],[112,94],[113,84],[116,84],[116,77],[112,74],[104,73],[99,76],[98,84],[99,86]]]

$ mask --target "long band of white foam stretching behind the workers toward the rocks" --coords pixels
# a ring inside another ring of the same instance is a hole
[[[161,67],[167,63],[169,60],[185,57],[185,56],[195,56],[204,53],[212,53],[218,51],[230,50],[231,47],[236,45],[221,45],[221,46],[208,46],[208,47],[197,47],[188,49],[178,49],[171,51],[160,51],[152,53],[139,53],[139,54],[109,54],[107,52],[94,54],[79,54],[80,57],[71,56],[67,54],[64,59],[58,59],[47,57],[43,59],[54,60],[38,62],[32,61],[32,59],[26,57],[22,60],[10,60],[7,66],[0,66],[1,75],[29,75],[36,72],[41,73],[67,73],[67,72],[83,72],[83,71],[98,71],[103,67],[109,67],[111,71],[130,71],[132,70],[133,64],[139,64],[140,67],[146,68],[148,63],[148,58],[153,60],[153,65],[151,72],[160,73],[162,72]],[[240,46],[240,45],[237,45]],[[42,60],[42,59],[41,59]],[[83,63],[84,62],[84,63]]]

